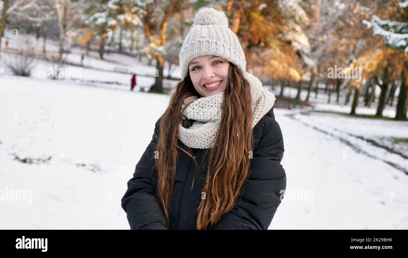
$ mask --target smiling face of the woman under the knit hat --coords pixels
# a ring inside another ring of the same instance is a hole
[[[224,91],[228,83],[230,62],[218,56],[197,56],[188,64],[188,72],[195,90],[201,96]]]

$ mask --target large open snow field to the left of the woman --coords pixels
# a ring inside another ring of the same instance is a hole
[[[0,77],[0,190],[32,190],[30,205],[1,203],[0,228],[129,228],[120,199],[166,101],[162,94]],[[30,165],[16,156],[51,160]]]

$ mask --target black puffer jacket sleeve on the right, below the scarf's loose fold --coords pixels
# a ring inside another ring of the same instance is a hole
[[[269,123],[253,151],[251,171],[242,196],[231,211],[224,214],[213,229],[268,229],[279,198],[286,189],[286,173],[280,164],[284,153],[282,131],[278,123]],[[283,197],[283,196],[282,196]]]

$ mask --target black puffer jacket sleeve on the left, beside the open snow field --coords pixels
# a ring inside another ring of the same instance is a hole
[[[169,229],[162,207],[156,196],[153,162],[160,130],[157,120],[153,137],[139,162],[121,202],[131,229]]]

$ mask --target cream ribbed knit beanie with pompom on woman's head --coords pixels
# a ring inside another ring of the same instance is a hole
[[[188,63],[197,56],[207,55],[225,58],[245,72],[246,61],[241,44],[228,27],[224,12],[214,8],[201,8],[198,11],[184,39],[179,56],[182,80],[187,76]]]

